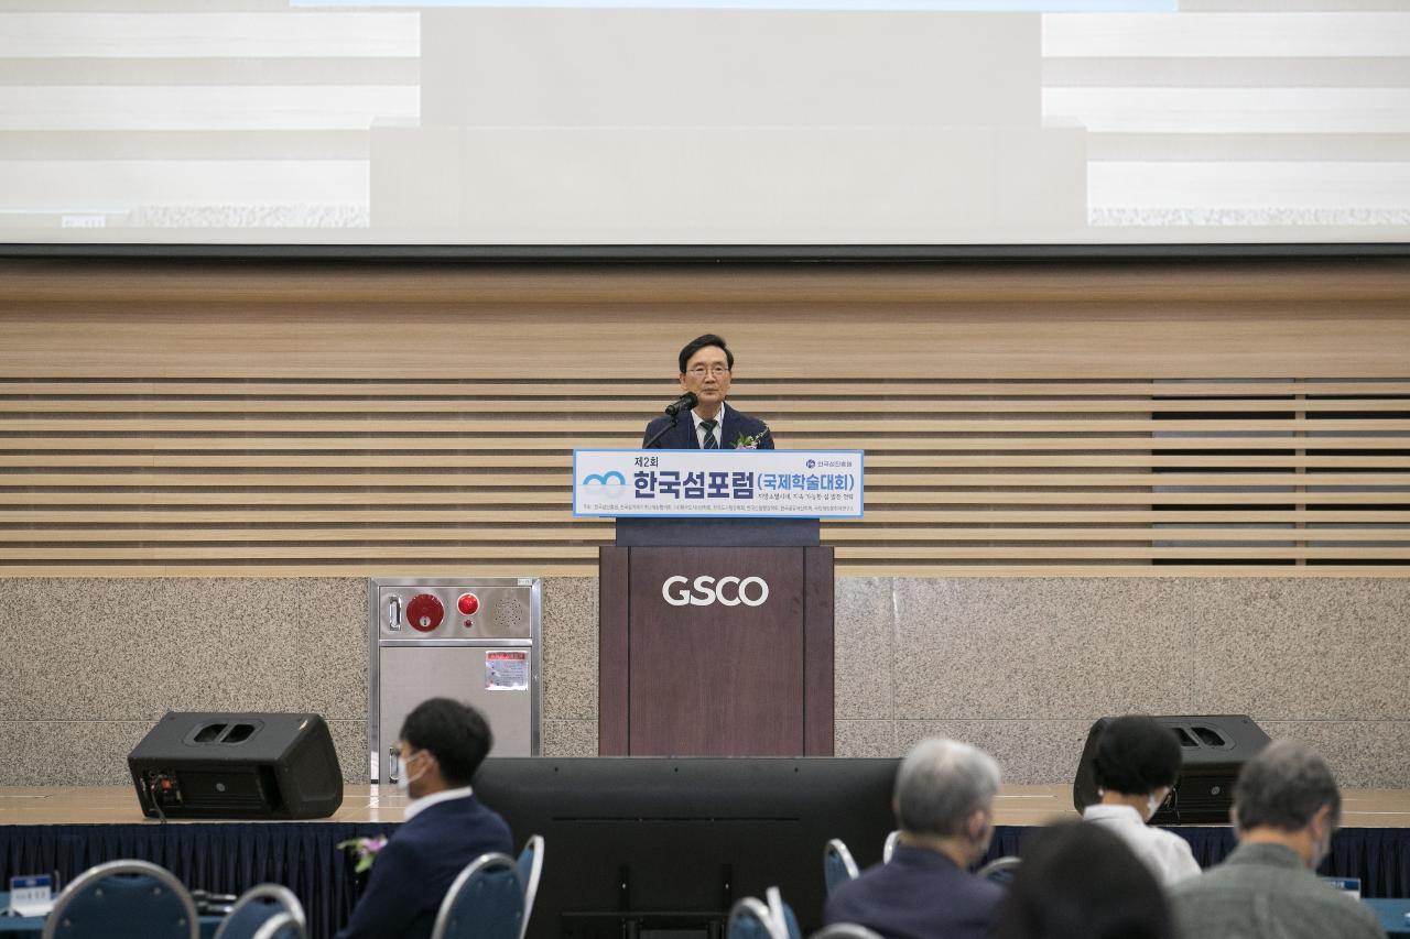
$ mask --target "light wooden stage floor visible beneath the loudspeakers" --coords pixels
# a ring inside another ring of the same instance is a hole
[[[329,822],[400,822],[406,797],[395,787],[348,785]],[[1043,825],[1074,815],[1070,785],[1005,785],[995,825]],[[151,822],[131,787],[0,787],[0,825],[117,825]],[[1347,790],[1342,828],[1410,828],[1410,790]]]

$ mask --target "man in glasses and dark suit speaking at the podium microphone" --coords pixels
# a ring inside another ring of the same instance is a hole
[[[684,415],[657,417],[646,426],[642,446],[658,450],[773,450],[774,436],[757,417],[725,406],[735,354],[725,340],[706,333],[680,354],[681,391],[698,403]],[[663,433],[664,431],[664,433]],[[657,436],[660,434],[660,436]]]

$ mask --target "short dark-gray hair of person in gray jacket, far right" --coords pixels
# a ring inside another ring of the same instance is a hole
[[[1324,806],[1341,822],[1341,791],[1327,763],[1296,740],[1269,743],[1244,764],[1234,785],[1234,823],[1239,830],[1297,832]]]

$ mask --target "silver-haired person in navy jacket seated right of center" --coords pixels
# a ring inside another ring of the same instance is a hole
[[[901,833],[890,863],[828,895],[823,922],[853,922],[887,939],[981,939],[1003,890],[969,873],[994,835],[1000,771],[957,740],[915,744],[895,775]]]

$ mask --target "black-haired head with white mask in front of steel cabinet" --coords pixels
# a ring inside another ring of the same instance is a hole
[[[484,715],[450,698],[416,705],[402,723],[402,780],[413,798],[470,785],[494,735]]]

